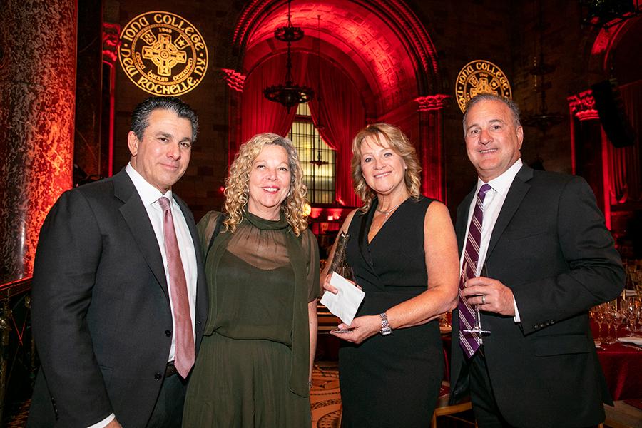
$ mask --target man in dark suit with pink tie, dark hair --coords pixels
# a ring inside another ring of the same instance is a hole
[[[194,218],[171,188],[197,132],[178,98],[148,98],[126,168],[63,193],[47,215],[29,427],[180,427],[208,300]]]

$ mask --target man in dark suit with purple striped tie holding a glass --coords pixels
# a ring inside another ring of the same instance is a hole
[[[611,397],[588,310],[618,296],[623,269],[591,188],[521,163],[512,101],[473,98],[464,138],[479,178],[457,209],[473,269],[453,313],[451,402],[469,389],[482,428],[599,424]],[[462,331],[474,327],[464,300],[489,333]]]

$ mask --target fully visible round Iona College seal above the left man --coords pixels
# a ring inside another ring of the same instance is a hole
[[[121,32],[118,57],[138,88],[159,96],[188,93],[208,70],[203,36],[170,12],[147,12],[129,21]]]

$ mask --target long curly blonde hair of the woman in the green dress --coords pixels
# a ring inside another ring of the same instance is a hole
[[[307,188],[303,184],[303,171],[299,164],[299,155],[292,141],[275,133],[260,133],[243,143],[230,166],[230,175],[225,178],[225,205],[223,210],[228,216],[223,220],[225,230],[234,232],[237,225],[243,221],[243,211],[248,205],[250,193],[250,171],[259,153],[266,144],[274,144],[285,148],[290,164],[290,192],[281,204],[281,210],[287,223],[292,226],[295,235],[300,235],[307,228],[307,220],[303,215],[303,205],[306,203]]]

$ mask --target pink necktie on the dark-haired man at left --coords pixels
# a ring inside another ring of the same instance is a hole
[[[161,208],[163,208],[165,253],[167,253],[167,263],[169,266],[169,287],[175,323],[176,342],[174,366],[178,374],[185,379],[190,373],[195,359],[194,332],[192,329],[192,319],[190,317],[187,282],[185,281],[183,262],[180,260],[180,250],[178,249],[178,240],[176,240],[170,201],[163,196],[163,198],[158,199],[158,203],[160,203]]]

